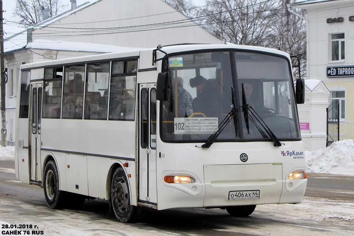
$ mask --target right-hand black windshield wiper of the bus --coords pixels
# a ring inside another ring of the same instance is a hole
[[[246,102],[246,96],[245,96],[245,90],[244,90],[244,86],[242,84],[242,110],[244,112],[244,116],[245,116],[245,123],[246,123],[246,128],[247,128],[247,132],[250,133],[250,129],[249,129],[249,111],[250,114],[253,116],[252,117],[252,122],[256,125],[257,129],[259,131],[261,131],[261,129],[259,128],[259,126],[257,126],[256,121],[258,121],[258,123],[263,127],[263,129],[265,130],[265,132],[268,134],[269,138],[272,139],[273,145],[275,147],[279,147],[281,146],[281,143],[279,142],[279,139],[275,136],[275,134],[272,132],[272,130],[267,126],[267,124],[262,120],[261,116],[258,115],[258,113]],[[257,116],[256,116],[257,115]],[[255,120],[254,120],[255,119]],[[262,132],[261,132],[262,134]],[[264,133],[263,133],[264,134]],[[262,134],[262,136],[263,136]]]

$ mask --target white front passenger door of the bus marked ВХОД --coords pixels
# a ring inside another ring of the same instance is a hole
[[[157,204],[156,84],[139,84],[139,202]]]

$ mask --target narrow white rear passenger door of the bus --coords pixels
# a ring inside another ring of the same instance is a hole
[[[43,83],[31,84],[31,115],[30,115],[30,182],[41,182],[41,110],[42,110]]]

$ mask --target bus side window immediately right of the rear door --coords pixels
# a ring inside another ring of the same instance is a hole
[[[42,118],[60,118],[63,67],[44,69]]]

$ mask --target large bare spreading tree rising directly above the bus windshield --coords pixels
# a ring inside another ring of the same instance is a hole
[[[219,38],[269,47],[274,8],[274,0],[209,0],[201,14],[205,27]]]

